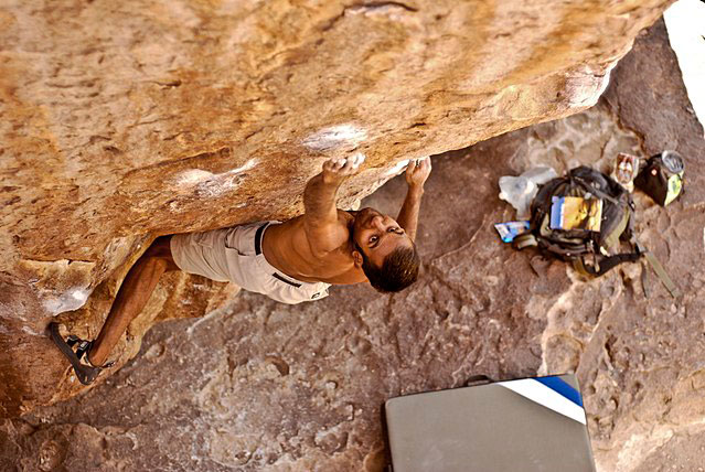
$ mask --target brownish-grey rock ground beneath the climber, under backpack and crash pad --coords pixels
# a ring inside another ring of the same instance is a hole
[[[381,471],[392,397],[576,372],[598,470],[697,471],[705,448],[705,141],[663,23],[620,63],[598,107],[434,158],[421,208],[420,281],[394,296],[337,287],[287,307],[241,293],[206,318],[168,321],[81,397],[0,427],[12,470]],[[620,151],[676,149],[685,194],[635,194],[638,225],[676,280],[622,266],[592,281],[503,245],[498,179],[534,164],[608,170]],[[392,180],[364,204],[394,214]],[[648,297],[647,297],[648,293]],[[175,309],[175,308],[172,308]],[[58,469],[61,470],[61,469]]]

